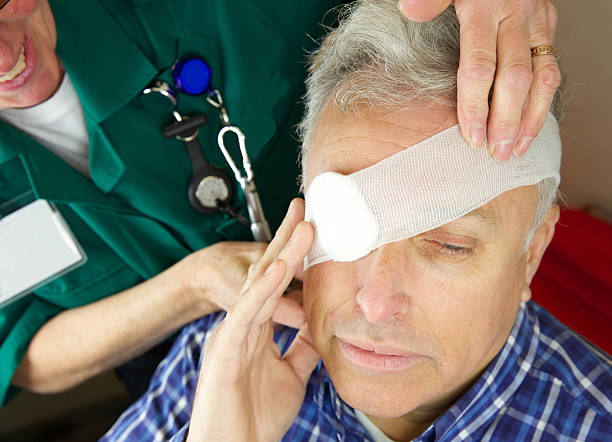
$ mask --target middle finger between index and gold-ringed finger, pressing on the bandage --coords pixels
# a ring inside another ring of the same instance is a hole
[[[495,158],[502,161],[512,155],[532,80],[525,12],[513,11],[499,26],[499,60],[489,116],[488,144]]]

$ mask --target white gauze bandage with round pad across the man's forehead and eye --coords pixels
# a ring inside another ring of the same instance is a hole
[[[548,114],[530,149],[501,162],[465,142],[458,126],[350,175],[325,172],[306,192],[315,227],[304,269],[355,261],[391,242],[449,223],[496,196],[546,178],[560,181],[561,140]]]

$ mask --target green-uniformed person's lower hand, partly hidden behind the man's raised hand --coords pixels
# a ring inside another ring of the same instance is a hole
[[[182,283],[200,308],[200,316],[232,309],[249,268],[260,260],[266,247],[257,242],[219,242],[192,253],[177,265]],[[296,298],[300,298],[297,290],[281,299],[276,322],[293,327],[304,322]]]

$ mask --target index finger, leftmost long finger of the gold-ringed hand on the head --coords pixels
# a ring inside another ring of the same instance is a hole
[[[457,0],[461,54],[457,71],[457,118],[459,129],[472,146],[484,145],[489,91],[497,62],[498,12],[492,2]]]

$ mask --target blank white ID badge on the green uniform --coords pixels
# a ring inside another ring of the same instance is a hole
[[[60,212],[36,200],[0,218],[0,308],[87,261]]]

